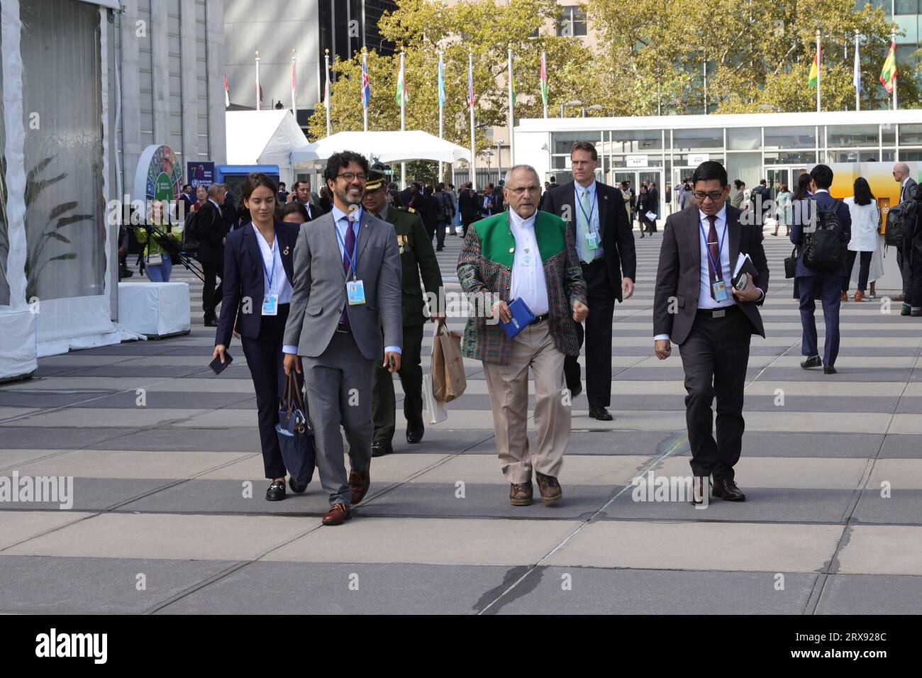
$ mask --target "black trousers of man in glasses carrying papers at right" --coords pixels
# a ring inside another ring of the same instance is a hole
[[[696,315],[691,332],[680,344],[685,371],[685,422],[691,446],[691,471],[713,475],[715,481],[733,480],[733,467],[742,451],[743,388],[752,326],[739,309],[722,318]],[[717,398],[717,439],[714,411]]]

